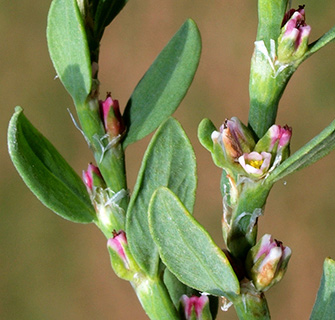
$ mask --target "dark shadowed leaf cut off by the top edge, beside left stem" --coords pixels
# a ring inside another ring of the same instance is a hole
[[[94,14],[94,33],[101,39],[104,29],[119,14],[128,0],[100,0]]]

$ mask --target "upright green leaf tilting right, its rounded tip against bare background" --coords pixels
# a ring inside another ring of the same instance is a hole
[[[127,103],[124,147],[154,131],[178,107],[198,67],[201,40],[194,21],[187,20],[162,50]]]

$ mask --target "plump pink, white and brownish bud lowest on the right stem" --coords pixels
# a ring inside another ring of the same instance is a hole
[[[291,249],[284,247],[281,241],[264,235],[252,247],[246,259],[249,278],[259,291],[266,291],[280,281],[287,269]]]

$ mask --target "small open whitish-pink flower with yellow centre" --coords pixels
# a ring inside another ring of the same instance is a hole
[[[268,172],[271,164],[271,153],[253,151],[238,158],[243,169],[252,177],[262,178]]]

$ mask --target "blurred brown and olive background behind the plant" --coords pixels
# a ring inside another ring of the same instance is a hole
[[[67,108],[72,101],[48,57],[50,1],[3,0],[1,26],[0,318],[19,320],[147,319],[128,283],[112,272],[106,240],[93,225],[67,222],[41,205],[14,170],[6,130],[15,105],[80,174],[92,161]],[[297,6],[296,1],[293,6]],[[335,22],[335,3],[304,1],[312,41]],[[211,118],[247,122],[248,76],[257,26],[256,1],[130,0],[107,29],[101,48],[101,92],[125,105],[156,55],[188,17],[200,28],[198,72],[176,118],[198,158],[195,216],[222,246],[220,170],[197,141],[197,126]],[[278,124],[293,127],[292,150],[320,132],[335,114],[335,45],[304,62],[281,101]],[[132,189],[149,139],[127,150]],[[284,280],[267,293],[274,320],[307,319],[326,256],[335,258],[335,153],[285,181],[268,199],[259,234],[292,248]],[[218,319],[235,319],[233,308]]]

